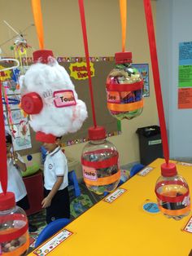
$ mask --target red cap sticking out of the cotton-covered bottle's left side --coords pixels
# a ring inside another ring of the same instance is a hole
[[[42,107],[42,99],[36,92],[30,92],[21,98],[21,108],[30,115],[40,113]]]

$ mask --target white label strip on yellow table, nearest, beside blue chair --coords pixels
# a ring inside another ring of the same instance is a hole
[[[68,231],[67,229],[63,229],[56,236],[53,236],[50,241],[47,241],[45,245],[42,245],[37,250],[33,251],[33,254],[38,256],[45,256],[46,254],[49,254],[53,249],[55,249],[55,247],[60,245],[63,241],[68,239],[69,236],[72,236],[72,232]]]

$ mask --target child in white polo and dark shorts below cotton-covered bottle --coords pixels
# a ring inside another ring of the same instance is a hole
[[[38,140],[38,139],[37,139]],[[40,140],[40,139],[39,139]],[[44,196],[42,208],[46,208],[46,222],[57,218],[70,218],[68,196],[68,161],[59,147],[60,138],[46,135],[41,138],[46,148],[44,163]]]

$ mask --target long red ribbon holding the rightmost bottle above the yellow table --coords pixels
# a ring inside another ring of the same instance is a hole
[[[152,64],[152,71],[153,71],[153,78],[154,78],[154,85],[155,85],[155,95],[156,95],[156,103],[157,103],[157,109],[158,109],[158,115],[159,115],[159,124],[160,124],[161,137],[162,137],[163,150],[164,150],[164,158],[166,163],[168,164],[168,161],[169,161],[168,135],[166,130],[165,118],[164,118],[164,104],[163,104],[163,99],[161,94],[159,65],[158,65],[156,42],[155,42],[153,16],[151,11],[151,1],[143,0],[143,2],[145,7],[145,13],[146,13],[146,26],[147,26],[147,32],[148,32],[148,38],[149,38],[149,45],[150,45],[151,64]]]

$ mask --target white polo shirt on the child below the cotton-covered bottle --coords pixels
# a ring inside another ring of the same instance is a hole
[[[61,148],[55,148],[53,152],[47,153],[44,163],[44,187],[51,190],[59,176],[63,176],[63,183],[59,190],[68,187],[68,160]]]

